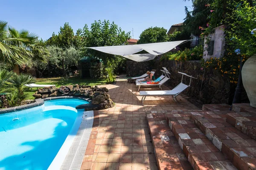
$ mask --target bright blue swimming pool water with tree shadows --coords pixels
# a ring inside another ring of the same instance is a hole
[[[0,115],[0,170],[47,170],[68,135],[75,136],[83,110],[79,99]]]

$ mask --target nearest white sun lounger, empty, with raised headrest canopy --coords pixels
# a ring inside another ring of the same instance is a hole
[[[175,101],[177,101],[176,100],[176,96],[179,95],[181,92],[183,92],[184,90],[186,90],[186,88],[188,88],[190,86],[192,78],[196,79],[195,77],[189,76],[189,75],[187,75],[185,73],[181,73],[181,72],[179,72],[179,73],[182,74],[181,82],[180,82],[179,85],[177,85],[174,89],[172,89],[170,91],[140,91],[140,96],[142,96],[142,99],[141,99],[142,104],[143,104],[144,100],[146,99],[146,96],[171,95],[172,98]],[[182,82],[183,75],[190,77],[189,85],[183,84],[183,82]]]

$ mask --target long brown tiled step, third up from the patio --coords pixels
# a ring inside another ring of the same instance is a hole
[[[239,170],[256,169],[256,141],[226,122],[226,114],[198,111],[189,115],[190,120],[235,167]]]

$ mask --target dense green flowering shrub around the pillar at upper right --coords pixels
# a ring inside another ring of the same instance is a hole
[[[256,6],[253,4],[256,4],[256,0],[215,0],[209,4],[209,10],[212,11],[209,27],[201,28],[208,35],[216,26],[224,24],[224,56],[203,61],[202,65],[219,70],[222,76],[230,78],[231,83],[238,82],[240,60],[244,63],[256,54]]]

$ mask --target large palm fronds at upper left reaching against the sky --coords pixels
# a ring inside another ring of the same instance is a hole
[[[10,66],[31,65],[32,59],[46,60],[49,53],[46,48],[38,45],[36,34],[7,28],[7,24],[0,20],[0,60]]]

